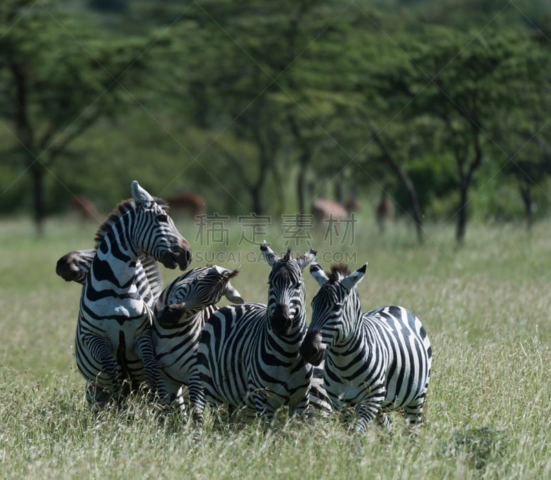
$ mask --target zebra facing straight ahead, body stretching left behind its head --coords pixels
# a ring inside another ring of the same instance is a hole
[[[260,246],[271,266],[268,304],[221,307],[205,323],[197,351],[200,388],[190,386],[194,417],[200,422],[207,402],[245,407],[270,421],[281,406],[302,413],[309,405],[312,366],[299,347],[306,334],[302,270],[315,260],[311,249],[297,259],[280,258]]]

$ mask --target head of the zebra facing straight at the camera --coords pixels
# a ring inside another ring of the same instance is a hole
[[[297,259],[291,259],[291,250],[287,250],[280,258],[266,241],[260,246],[260,251],[271,266],[267,305],[269,325],[280,336],[294,334],[306,327],[302,270],[315,261],[318,252],[311,248]]]

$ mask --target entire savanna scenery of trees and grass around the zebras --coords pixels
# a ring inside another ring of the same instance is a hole
[[[4,0],[2,476],[549,477],[550,53],[543,0]],[[87,411],[80,287],[54,265],[133,179],[202,197],[200,217],[172,210],[192,266],[239,268],[247,301],[265,301],[247,257],[264,237],[368,261],[364,309],[408,307],[433,344],[417,442],[398,414],[357,438],[338,415],[198,430],[139,398]],[[311,223],[320,198],[354,201],[346,235]]]

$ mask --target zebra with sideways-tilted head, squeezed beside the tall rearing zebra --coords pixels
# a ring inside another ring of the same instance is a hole
[[[218,310],[222,295],[232,303],[244,302],[230,283],[237,274],[218,265],[194,268],[174,279],[156,301],[152,338],[160,367],[158,394],[165,406],[177,400],[185,414],[181,388],[199,382],[195,365],[203,325]]]

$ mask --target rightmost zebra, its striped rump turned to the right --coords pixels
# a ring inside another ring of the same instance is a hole
[[[324,358],[324,386],[333,406],[355,406],[353,430],[364,433],[377,418],[390,427],[386,411],[403,409],[410,426],[422,421],[432,349],[419,318],[391,305],[362,314],[355,286],[367,263],[353,273],[317,263],[310,272],[320,284],[312,319],[300,347],[314,365]]]

